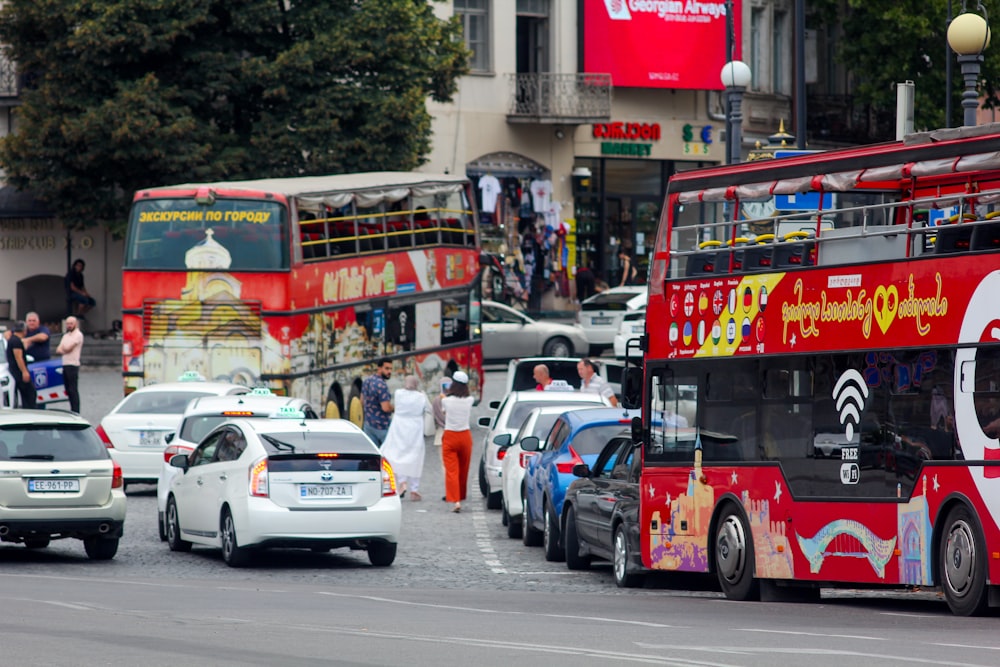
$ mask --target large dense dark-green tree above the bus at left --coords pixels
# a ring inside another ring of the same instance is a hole
[[[23,73],[8,181],[68,225],[124,229],[135,190],[409,170],[426,98],[467,71],[439,0],[7,0]]]

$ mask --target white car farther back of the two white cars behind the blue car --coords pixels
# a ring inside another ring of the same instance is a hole
[[[568,385],[567,385],[568,386]],[[579,391],[512,391],[507,398],[492,401],[490,408],[497,411],[493,417],[480,417],[479,425],[487,426],[483,441],[483,457],[479,461],[479,490],[486,496],[486,507],[498,510],[502,504],[503,488],[500,482],[500,445],[497,436],[512,436],[524,423],[528,413],[534,408],[546,405],[563,406],[563,412],[574,407],[593,408],[610,405],[597,394]]]

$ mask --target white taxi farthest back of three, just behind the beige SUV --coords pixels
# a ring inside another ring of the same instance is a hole
[[[123,398],[101,420],[97,435],[122,467],[126,485],[153,484],[160,475],[166,435],[177,431],[189,401],[249,391],[243,385],[206,382],[197,373],[185,373],[177,382],[151,384]]]

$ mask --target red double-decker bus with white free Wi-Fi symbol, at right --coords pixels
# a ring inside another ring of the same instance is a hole
[[[663,211],[643,564],[1000,602],[1000,126],[685,172]]]

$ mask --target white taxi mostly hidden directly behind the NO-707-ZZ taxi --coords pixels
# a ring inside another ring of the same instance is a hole
[[[180,471],[170,465],[170,459],[177,454],[190,454],[202,438],[216,426],[228,419],[270,417],[281,409],[301,410],[306,419],[319,419],[319,415],[308,401],[301,398],[276,396],[270,390],[256,387],[249,394],[234,396],[206,396],[188,403],[181,417],[176,433],[168,433],[164,438],[167,448],[160,461],[160,476],[156,480],[157,524],[160,539],[167,539],[167,494],[170,481]]]

